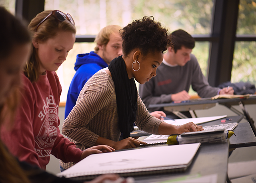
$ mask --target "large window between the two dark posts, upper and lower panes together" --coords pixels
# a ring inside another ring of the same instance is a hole
[[[69,13],[75,20],[76,35],[96,35],[101,28],[116,24],[126,26],[143,16],[154,16],[170,32],[183,29],[191,35],[209,35],[211,29],[212,0],[46,0],[45,10],[58,9]],[[78,53],[94,50],[94,43],[75,43],[67,60],[57,71],[62,84],[61,101],[66,95]],[[196,42],[192,53],[196,55],[204,75],[208,63],[209,42]]]

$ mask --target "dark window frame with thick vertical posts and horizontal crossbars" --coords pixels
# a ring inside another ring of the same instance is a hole
[[[16,0],[15,15],[30,22],[44,10],[45,0]],[[192,35],[196,41],[209,41],[207,79],[211,86],[231,80],[235,41],[256,41],[256,35],[236,35],[239,0],[213,0],[209,35]],[[76,35],[76,42],[93,42],[96,35]]]

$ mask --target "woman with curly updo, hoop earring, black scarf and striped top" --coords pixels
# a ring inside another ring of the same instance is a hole
[[[120,150],[146,144],[130,137],[134,123],[140,130],[158,135],[202,130],[192,122],[174,126],[151,116],[138,94],[134,79],[144,84],[156,76],[171,43],[167,30],[153,17],[144,17],[124,27],[122,40],[124,55],[86,82],[62,133],[81,150],[100,144]],[[121,133],[123,140],[119,141]],[[60,165],[67,169],[73,163],[61,161]]]

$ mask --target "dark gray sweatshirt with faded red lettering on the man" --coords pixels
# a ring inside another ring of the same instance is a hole
[[[212,97],[218,94],[220,88],[211,87],[204,77],[198,61],[193,54],[191,60],[183,67],[170,67],[162,63],[157,71],[156,77],[149,82],[140,85],[139,94],[146,108],[149,104],[162,104],[172,102],[171,95],[180,91],[192,89],[202,98]],[[149,112],[163,110],[160,108],[148,108]]]

